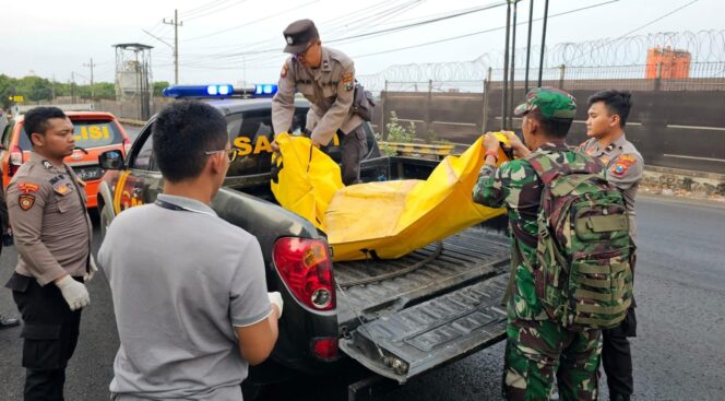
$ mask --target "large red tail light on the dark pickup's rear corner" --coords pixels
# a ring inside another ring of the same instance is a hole
[[[332,261],[324,240],[280,238],[274,244],[274,264],[302,305],[313,310],[335,308]]]

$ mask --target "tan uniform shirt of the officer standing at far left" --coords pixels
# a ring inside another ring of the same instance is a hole
[[[35,152],[8,186],[8,211],[17,247],[15,272],[46,285],[68,273],[82,276],[91,257],[91,219],[73,170]]]

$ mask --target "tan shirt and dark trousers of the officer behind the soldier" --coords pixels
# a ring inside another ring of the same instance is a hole
[[[634,199],[644,169],[642,155],[631,142],[627,141],[623,133],[604,149],[599,149],[597,139],[592,138],[580,144],[578,150],[590,156],[598,157],[606,165],[607,180],[617,187],[625,198],[630,236],[632,240],[635,240]],[[627,339],[637,337],[637,316],[634,314],[637,304],[633,300],[632,298],[632,307],[627,311],[622,323],[602,332],[604,340],[602,362],[604,371],[607,374],[607,386],[611,399],[616,399],[616,394],[620,394],[621,399],[626,400],[634,391],[632,353]]]

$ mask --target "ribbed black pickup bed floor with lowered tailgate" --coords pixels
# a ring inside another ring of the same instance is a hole
[[[498,342],[509,263],[508,238],[482,228],[395,260],[335,263],[341,349],[403,384]]]

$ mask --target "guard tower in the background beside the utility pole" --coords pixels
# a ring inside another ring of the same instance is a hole
[[[118,44],[116,48],[116,99],[138,105],[138,118],[151,117],[151,49],[143,44]]]

